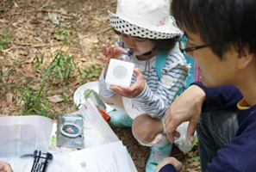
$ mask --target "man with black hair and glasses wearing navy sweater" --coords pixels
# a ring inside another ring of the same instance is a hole
[[[173,142],[183,121],[190,121],[190,140],[197,127],[203,172],[256,170],[255,9],[256,0],[172,0],[172,14],[188,38],[182,51],[194,57],[202,83],[172,103],[165,129]],[[157,171],[181,166],[168,157]]]

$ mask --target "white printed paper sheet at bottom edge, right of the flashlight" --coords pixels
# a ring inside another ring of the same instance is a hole
[[[76,172],[131,172],[122,141],[73,151],[71,155]]]

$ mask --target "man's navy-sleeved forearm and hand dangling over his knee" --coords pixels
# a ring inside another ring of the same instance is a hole
[[[202,111],[235,110],[240,99],[242,95],[233,85],[207,88],[201,82],[192,83],[172,102],[166,113],[165,130],[168,138],[173,143],[174,137],[179,137],[176,128],[184,121],[189,121],[187,135],[192,141]]]

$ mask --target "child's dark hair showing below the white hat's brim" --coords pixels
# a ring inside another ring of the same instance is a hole
[[[114,32],[118,35],[121,35],[122,33],[117,31],[116,29],[114,29]],[[158,49],[158,50],[172,50],[172,48],[175,46],[176,42],[179,40],[180,36],[176,36],[176,37],[173,37],[171,39],[163,39],[163,40],[153,40],[153,39],[148,39],[150,41],[153,42],[153,44],[155,45],[155,49]]]

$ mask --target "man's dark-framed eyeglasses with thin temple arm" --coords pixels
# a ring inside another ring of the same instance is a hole
[[[192,52],[192,51],[198,50],[200,48],[204,48],[204,47],[207,47],[207,46],[211,45],[211,44],[206,44],[206,45],[203,45],[203,46],[187,47],[188,45],[190,45],[190,42],[188,41],[188,39],[186,38],[185,35],[183,35],[181,37],[181,39],[178,41],[178,44],[179,44],[180,52],[183,52],[184,54],[186,54],[186,52]]]

